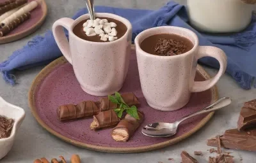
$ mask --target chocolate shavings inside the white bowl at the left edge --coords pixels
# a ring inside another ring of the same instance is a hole
[[[8,119],[0,116],[0,139],[10,137],[12,133],[13,124],[13,119]]]

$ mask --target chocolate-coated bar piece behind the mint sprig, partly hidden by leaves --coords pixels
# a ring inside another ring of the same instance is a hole
[[[128,106],[139,106],[140,102],[138,101],[137,97],[132,94],[132,93],[127,93],[127,94],[122,94],[121,97],[124,99],[124,102],[128,105]],[[115,108],[118,108],[118,104],[112,103],[111,101],[108,100],[108,97],[104,97],[100,100],[100,105],[99,105],[100,109],[102,111],[105,110],[113,110]]]

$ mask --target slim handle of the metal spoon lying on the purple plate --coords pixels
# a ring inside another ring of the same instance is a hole
[[[209,113],[212,111],[220,110],[221,108],[228,106],[231,103],[231,99],[229,97],[223,97],[219,99],[218,101],[212,103],[210,106],[207,106],[203,110],[197,111],[195,113],[192,113],[191,115],[187,115],[186,117],[183,117],[182,120],[180,120],[178,123],[180,124],[184,120],[187,120],[191,117],[195,117],[196,115],[201,115],[204,113]]]

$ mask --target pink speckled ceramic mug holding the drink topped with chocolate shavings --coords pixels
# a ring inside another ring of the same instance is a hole
[[[189,52],[174,56],[152,55],[141,50],[140,44],[145,38],[165,33],[188,38],[194,46]],[[202,92],[213,87],[227,67],[227,57],[223,50],[213,46],[199,46],[196,34],[181,27],[147,29],[138,34],[135,45],[141,89],[147,103],[156,110],[173,111],[182,108],[188,103],[191,92]],[[220,70],[210,80],[194,81],[197,60],[202,57],[217,59]]]

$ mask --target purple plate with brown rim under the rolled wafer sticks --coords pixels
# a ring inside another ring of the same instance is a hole
[[[0,3],[4,1],[6,0],[0,0]],[[31,1],[35,0],[28,0],[28,2]],[[30,13],[31,17],[28,20],[20,24],[17,28],[13,29],[13,31],[8,33],[6,36],[0,37],[0,44],[16,41],[17,39],[24,38],[32,32],[35,32],[36,29],[43,24],[47,15],[47,5],[45,1],[42,0],[42,3]]]

